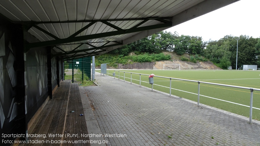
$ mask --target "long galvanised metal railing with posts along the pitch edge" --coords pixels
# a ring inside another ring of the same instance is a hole
[[[116,70],[114,70],[114,73],[116,72]],[[126,72],[126,71],[118,71],[118,80],[120,77],[120,72],[124,73],[124,80],[125,80],[125,73],[131,73],[131,72]],[[137,74],[140,75],[140,87],[141,87],[141,75],[146,75],[146,74],[142,74],[142,73],[131,73],[131,84],[132,84],[132,74]],[[149,75],[147,75],[149,76]],[[253,91],[260,91],[259,88],[250,88],[250,87],[242,87],[242,86],[233,86],[233,85],[227,85],[227,84],[217,84],[217,83],[210,83],[210,82],[201,82],[201,81],[195,81],[195,80],[186,80],[186,79],[179,79],[179,78],[173,78],[173,77],[162,77],[162,76],[157,76],[154,75],[154,77],[161,77],[161,78],[167,78],[170,79],[170,97],[171,97],[171,80],[182,80],[182,81],[188,81],[188,82],[197,82],[198,83],[198,105],[199,106],[199,91],[200,91],[200,83],[203,84],[211,84],[211,85],[217,85],[217,86],[226,86],[226,87],[232,87],[232,88],[240,88],[240,89],[246,89],[246,90],[250,90],[250,114],[249,114],[249,123],[252,123],[252,108],[253,108]],[[168,88],[168,87],[167,87]],[[153,90],[153,84],[152,84],[152,90]],[[230,101],[229,101],[230,102]],[[235,103],[237,104],[237,103]],[[240,105],[240,104],[239,104]]]

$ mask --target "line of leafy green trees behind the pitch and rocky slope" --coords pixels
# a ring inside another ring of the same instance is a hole
[[[219,67],[226,69],[228,66],[236,68],[238,39],[237,67],[243,64],[260,66],[260,38],[252,38],[246,35],[239,37],[226,35],[219,40],[203,41],[200,36],[179,35],[177,32],[158,32],[135,42],[131,42],[111,53],[119,53],[127,56],[135,51],[146,53],[160,53],[162,50],[175,52],[178,55],[187,53],[191,56],[204,56]]]

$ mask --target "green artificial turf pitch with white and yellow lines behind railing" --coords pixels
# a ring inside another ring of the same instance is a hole
[[[96,70],[100,72],[100,70]],[[151,88],[149,84],[149,78],[147,75],[154,74],[156,76],[180,78],[186,80],[195,80],[203,82],[211,82],[217,84],[228,84],[233,86],[243,86],[250,88],[260,88],[260,71],[235,71],[235,70],[118,70],[120,72],[120,79],[124,80],[124,71],[132,73],[146,74],[141,75],[141,86]],[[118,71],[116,71],[116,77],[118,78]],[[122,72],[123,71],[123,72]],[[108,70],[108,75],[112,76],[114,70]],[[130,82],[130,73],[125,73],[125,80]],[[170,80],[167,78],[153,77],[154,85],[153,89],[159,90],[165,93],[170,93]],[[140,75],[132,74],[132,82],[139,84]],[[162,87],[166,86],[166,87]],[[188,82],[181,80],[171,81],[171,94],[186,98],[192,101],[198,99],[198,83]],[[177,90],[175,90],[177,89]],[[180,91],[181,90],[181,91]],[[184,92],[186,91],[186,92]],[[187,93],[190,92],[190,93]],[[195,93],[195,94],[192,94]],[[208,97],[204,97],[204,96]],[[222,99],[212,99],[209,97]],[[235,114],[239,114],[245,117],[249,117],[249,107],[232,104],[226,101],[234,102],[250,106],[250,90],[231,88],[225,86],[217,86],[210,84],[200,84],[200,98],[199,103],[226,110]],[[260,120],[260,91],[253,92],[253,111],[252,118]],[[259,109],[255,109],[259,108]]]

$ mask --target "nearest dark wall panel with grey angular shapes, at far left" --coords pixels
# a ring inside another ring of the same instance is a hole
[[[25,134],[23,31],[0,16],[0,133]],[[13,138],[5,138],[13,140]],[[1,144],[9,145],[9,144]]]

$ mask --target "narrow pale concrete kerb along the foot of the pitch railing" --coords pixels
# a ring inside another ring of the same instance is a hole
[[[109,77],[111,77],[111,76],[109,76]],[[116,79],[118,79],[118,78],[116,78]],[[122,80],[122,79],[119,79],[119,80],[124,81],[124,80]],[[128,81],[124,81],[124,82],[128,82]],[[128,83],[131,83],[131,82],[128,82]],[[136,85],[136,86],[140,86],[139,84],[135,84],[135,83],[133,83],[133,82],[132,82],[132,84],[134,84],[134,85]],[[146,87],[146,86],[141,86],[141,87],[147,88],[147,89],[151,90],[151,88]],[[154,90],[154,89],[153,89],[153,91],[154,91],[154,92],[158,92],[158,93],[162,93],[162,94],[165,94],[165,95],[169,95],[169,93],[165,93],[165,92],[162,92],[162,91],[159,91],[159,90]],[[151,92],[153,92],[153,91],[151,90]],[[172,95],[172,94],[171,94],[171,97],[173,97],[173,98],[180,98],[180,99],[182,99],[182,100],[189,101],[189,102],[194,103],[194,104],[197,105],[197,102],[192,101],[192,100],[189,100],[189,99],[185,99],[185,98],[182,98],[182,97],[178,97],[178,96],[175,96],[175,95]],[[226,110],[221,110],[221,109],[219,109],[219,108],[215,108],[215,107],[208,106],[208,105],[201,104],[201,103],[199,103],[199,105],[200,105],[200,106],[203,106],[203,107],[205,107],[205,108],[211,108],[211,109],[213,109],[213,110],[217,110],[217,111],[220,111],[220,112],[223,112],[223,113],[226,113],[226,114],[230,114],[230,115],[235,116],[235,117],[239,117],[239,118],[241,118],[241,119],[248,120],[248,122],[249,122],[249,118],[248,118],[248,117],[241,116],[241,115],[239,115],[239,114],[235,114],[235,113],[232,113],[232,112],[228,112],[228,111],[226,111]],[[255,120],[255,119],[252,119],[252,122],[260,124],[260,121]]]

